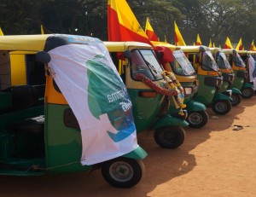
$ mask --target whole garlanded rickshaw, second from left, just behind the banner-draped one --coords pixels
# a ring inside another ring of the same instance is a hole
[[[175,117],[168,113],[172,94],[164,93],[166,76],[152,46],[139,42],[104,43],[131,97],[137,133],[154,130],[154,141],[160,147],[179,147],[185,137],[183,127],[189,124],[178,113]]]

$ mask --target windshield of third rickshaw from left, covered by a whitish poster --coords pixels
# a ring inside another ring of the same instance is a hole
[[[174,56],[174,64],[172,64],[172,69],[178,75],[193,75],[195,74],[194,67],[192,67],[190,61],[184,55],[182,50],[175,50],[173,51]]]

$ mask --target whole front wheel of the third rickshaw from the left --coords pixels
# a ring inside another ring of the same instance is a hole
[[[189,123],[190,128],[201,128],[204,125],[207,125],[209,116],[206,111],[189,112],[186,120]]]

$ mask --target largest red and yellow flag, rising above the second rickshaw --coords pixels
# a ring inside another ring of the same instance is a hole
[[[152,45],[125,0],[108,0],[108,40]]]

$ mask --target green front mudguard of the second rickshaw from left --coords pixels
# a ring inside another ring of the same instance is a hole
[[[161,117],[154,125],[153,129],[158,129],[163,126],[188,126],[189,123],[184,119],[177,119],[169,114]]]

